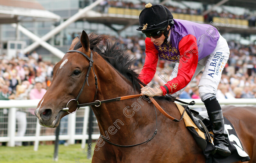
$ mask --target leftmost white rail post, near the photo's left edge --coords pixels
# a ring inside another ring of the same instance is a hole
[[[8,137],[9,137],[9,142],[8,146],[9,147],[14,147],[15,146],[15,129],[16,129],[16,108],[11,107],[9,110],[9,115],[8,115]]]

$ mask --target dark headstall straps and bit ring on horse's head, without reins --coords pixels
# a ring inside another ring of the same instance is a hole
[[[92,68],[93,73],[94,73],[95,86],[96,86],[94,99],[96,98],[97,90],[98,90],[98,81],[97,81],[98,78],[97,78],[97,75],[95,74],[94,68],[93,68],[93,59],[92,59],[93,54],[92,54],[92,50],[91,50],[91,58],[89,58],[86,54],[84,54],[83,52],[80,52],[80,51],[78,51],[78,50],[69,50],[69,51],[67,51],[67,53],[69,53],[69,52],[77,52],[77,53],[80,53],[80,54],[82,54],[83,56],[85,56],[85,57],[90,61],[89,67],[88,67],[88,71],[87,71],[87,74],[86,74],[86,76],[85,76],[84,83],[83,83],[83,86],[82,86],[80,92],[78,93],[78,95],[77,95],[77,97],[76,97],[75,99],[69,100],[69,102],[70,102],[70,101],[73,101],[73,100],[76,101],[76,102],[77,102],[77,105],[78,105],[78,104],[79,104],[79,103],[78,103],[78,99],[79,99],[81,93],[83,92],[85,83],[87,82],[87,85],[89,86],[88,77],[89,77],[89,73],[90,73],[90,71],[91,71],[91,68]],[[96,100],[96,101],[98,101],[98,100]],[[68,113],[69,113],[69,108],[68,108],[69,102],[67,103],[66,108],[63,108],[63,109],[62,109],[63,111],[67,111]],[[76,110],[77,110],[78,108],[79,108],[79,107],[77,106],[77,107],[76,107]],[[75,113],[76,110],[73,111],[72,113],[69,113],[69,114]]]

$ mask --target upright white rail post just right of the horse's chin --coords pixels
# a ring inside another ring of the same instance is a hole
[[[69,134],[68,144],[75,144],[76,112],[74,114],[69,114],[69,118],[68,118],[68,134]]]

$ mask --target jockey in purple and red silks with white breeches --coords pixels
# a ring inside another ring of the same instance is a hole
[[[141,94],[176,98],[204,70],[198,84],[199,95],[211,121],[216,152],[229,156],[228,135],[224,129],[221,107],[215,97],[230,53],[226,39],[212,25],[173,19],[168,8],[159,4],[145,5],[140,12],[139,23],[137,30],[147,36],[146,58],[139,79],[144,84],[153,79],[158,57],[176,63],[164,86],[159,89],[143,87]]]

